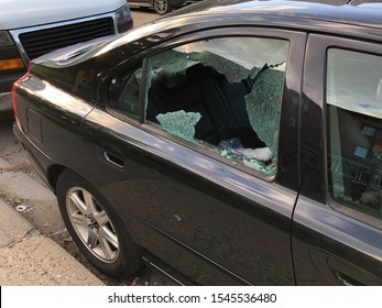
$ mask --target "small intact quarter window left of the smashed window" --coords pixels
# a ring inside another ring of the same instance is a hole
[[[129,69],[112,76],[106,89],[107,107],[139,119],[142,68]]]

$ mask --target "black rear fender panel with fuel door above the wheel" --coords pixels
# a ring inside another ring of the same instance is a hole
[[[19,110],[18,119],[24,131],[17,135],[24,139],[24,144],[33,144],[28,147],[28,152],[39,174],[51,187],[55,186],[55,182],[46,178],[46,174],[54,174],[55,166],[58,167],[58,172],[75,164],[80,174],[91,177],[92,165],[84,153],[80,124],[84,117],[92,110],[94,103],[70,97],[53,86],[46,87],[46,82],[35,76],[30,77],[29,86],[28,90],[35,95],[28,100],[20,98],[28,108]],[[63,101],[65,103],[61,106]],[[40,106],[41,109],[35,110],[35,106]],[[56,117],[55,121],[46,120]],[[63,148],[62,139],[73,147]],[[72,155],[76,155],[77,158],[67,162],[66,157]]]

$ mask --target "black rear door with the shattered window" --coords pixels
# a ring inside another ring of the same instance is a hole
[[[305,37],[204,31],[106,79],[106,108],[86,117],[84,139],[98,156],[96,185],[146,258],[194,284],[295,284],[291,218]],[[238,140],[263,144],[272,158],[238,154]]]

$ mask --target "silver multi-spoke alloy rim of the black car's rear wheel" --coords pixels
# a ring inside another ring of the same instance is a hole
[[[98,260],[114,262],[119,240],[108,215],[95,197],[84,188],[73,187],[66,194],[70,223],[89,252]]]

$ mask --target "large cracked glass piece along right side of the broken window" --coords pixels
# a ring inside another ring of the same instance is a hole
[[[283,96],[284,72],[266,69],[245,97],[245,108],[252,129],[277,156],[279,122]]]

